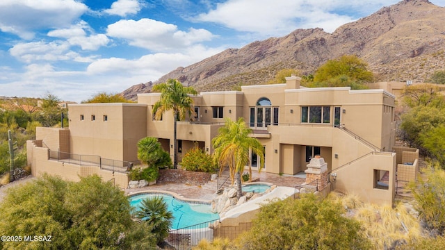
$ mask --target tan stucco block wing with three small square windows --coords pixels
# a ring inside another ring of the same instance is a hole
[[[91,120],[92,115],[95,121]],[[104,121],[105,115],[107,121]],[[72,153],[135,161],[137,142],[146,136],[147,106],[136,103],[70,105],[70,131]]]

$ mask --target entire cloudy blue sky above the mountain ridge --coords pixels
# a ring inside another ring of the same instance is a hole
[[[397,2],[1,0],[0,96],[80,102],[297,28],[332,33]]]

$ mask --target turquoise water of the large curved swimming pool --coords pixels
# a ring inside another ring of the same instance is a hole
[[[156,196],[162,197],[164,202],[168,205],[168,210],[173,213],[174,219],[170,229],[184,228],[203,222],[209,222],[213,219],[219,219],[217,213],[211,213],[210,204],[181,201],[166,194],[139,194],[129,198],[130,205],[139,209],[140,201]]]

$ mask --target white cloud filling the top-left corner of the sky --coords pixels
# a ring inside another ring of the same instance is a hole
[[[74,0],[2,0],[0,30],[29,40],[35,29],[68,26],[87,10]]]

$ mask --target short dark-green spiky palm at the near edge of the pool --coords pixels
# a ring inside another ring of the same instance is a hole
[[[135,213],[136,218],[148,222],[152,226],[152,233],[156,242],[160,244],[168,236],[172,226],[173,214],[168,211],[167,203],[162,197],[143,199],[140,202],[140,210]]]

